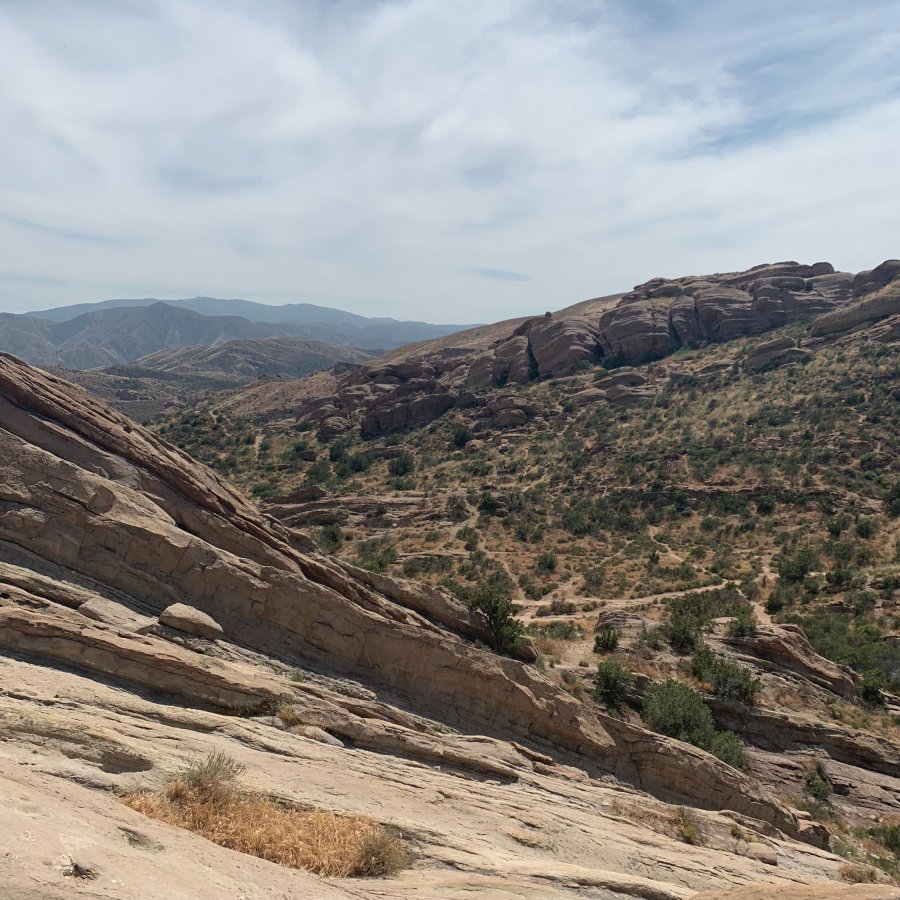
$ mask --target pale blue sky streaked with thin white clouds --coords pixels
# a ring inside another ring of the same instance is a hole
[[[900,256],[896,0],[0,0],[0,310],[485,322]]]

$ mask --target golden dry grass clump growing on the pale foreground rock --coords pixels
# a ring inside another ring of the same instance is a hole
[[[238,787],[242,771],[215,754],[192,764],[161,791],[129,794],[124,803],[229,850],[319,875],[371,878],[409,865],[409,854],[392,830],[359,816],[285,808]]]

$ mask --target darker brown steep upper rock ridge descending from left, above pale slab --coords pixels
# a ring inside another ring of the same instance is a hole
[[[206,673],[195,677],[190,651],[166,656],[160,638],[122,637],[71,609],[88,599],[79,590],[148,616],[183,603],[241,652],[364,679],[470,734],[800,833],[788,809],[714,757],[596,715],[536,669],[479,650],[472,640],[485,623],[451,598],[315,554],[215,473],[9,357],[0,357],[0,423],[2,561],[60,586],[43,601],[20,589],[21,603],[0,609],[8,649],[168,692],[194,682],[195,699],[230,708],[271,703],[262,676],[248,684],[194,654]],[[154,666],[154,656],[169,661]]]

